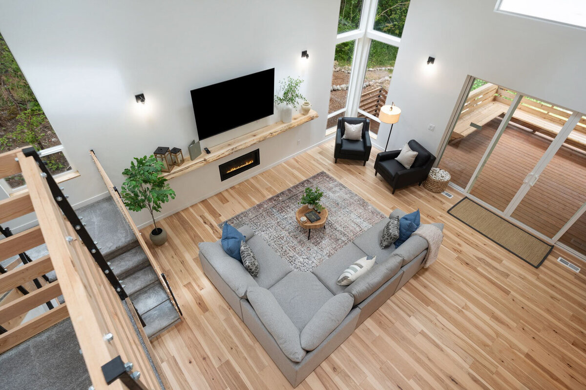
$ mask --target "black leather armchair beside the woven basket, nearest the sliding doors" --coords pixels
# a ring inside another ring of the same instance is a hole
[[[374,175],[376,176],[377,173],[380,173],[383,179],[393,187],[393,194],[395,189],[406,185],[417,182],[421,185],[435,162],[435,156],[417,141],[410,140],[408,145],[411,150],[417,152],[417,157],[415,157],[415,161],[413,161],[413,165],[409,169],[406,169],[403,164],[395,160],[401,150],[383,151],[383,153],[377,154],[376,161],[374,161]]]

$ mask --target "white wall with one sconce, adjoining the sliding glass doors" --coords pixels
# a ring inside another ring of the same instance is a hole
[[[389,89],[402,111],[389,150],[416,139],[435,153],[466,75],[586,112],[586,31],[493,12],[495,4],[411,1]],[[389,128],[381,125],[381,149]]]

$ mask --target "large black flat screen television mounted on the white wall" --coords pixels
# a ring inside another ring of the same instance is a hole
[[[275,68],[193,89],[199,140],[272,115],[274,91]]]

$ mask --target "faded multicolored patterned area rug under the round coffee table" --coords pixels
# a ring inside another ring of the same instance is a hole
[[[312,229],[310,240],[295,219],[306,187],[319,187],[321,203],[328,209],[326,229]],[[234,227],[250,226],[295,270],[311,271],[382,218],[384,214],[370,203],[326,172],[319,172],[227,222]]]

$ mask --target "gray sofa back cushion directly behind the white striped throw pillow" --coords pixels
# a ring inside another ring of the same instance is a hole
[[[354,297],[354,305],[364,301],[370,294],[377,291],[381,285],[394,277],[401,269],[401,263],[400,257],[391,256],[391,258],[374,265],[370,271],[349,285],[346,288],[346,292]]]

